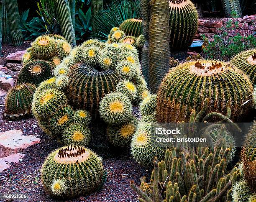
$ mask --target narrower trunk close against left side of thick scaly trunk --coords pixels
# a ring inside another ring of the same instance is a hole
[[[141,0],[141,15],[142,15],[142,23],[143,23],[143,35],[145,36],[145,43],[142,48],[142,55],[141,55],[141,70],[147,84],[149,84],[149,79],[148,79],[148,29],[149,29],[149,21],[150,21],[149,0]]]

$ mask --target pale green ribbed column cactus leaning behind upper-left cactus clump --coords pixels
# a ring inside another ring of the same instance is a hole
[[[74,47],[76,46],[76,37],[70,15],[69,2],[68,0],[55,0],[55,5],[59,15],[61,33]]]

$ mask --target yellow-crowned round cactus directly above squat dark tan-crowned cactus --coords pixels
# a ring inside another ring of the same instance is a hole
[[[56,54],[56,41],[49,36],[38,36],[31,45],[31,54],[38,59],[49,59]]]

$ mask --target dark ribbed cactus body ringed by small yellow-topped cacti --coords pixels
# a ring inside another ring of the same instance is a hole
[[[87,64],[71,66],[68,77],[70,101],[93,113],[97,112],[102,97],[115,91],[119,81],[114,70],[98,71]]]

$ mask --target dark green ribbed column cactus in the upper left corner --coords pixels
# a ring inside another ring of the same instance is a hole
[[[20,26],[20,14],[17,0],[5,0],[5,6],[13,46],[21,46],[23,42],[23,35]]]

